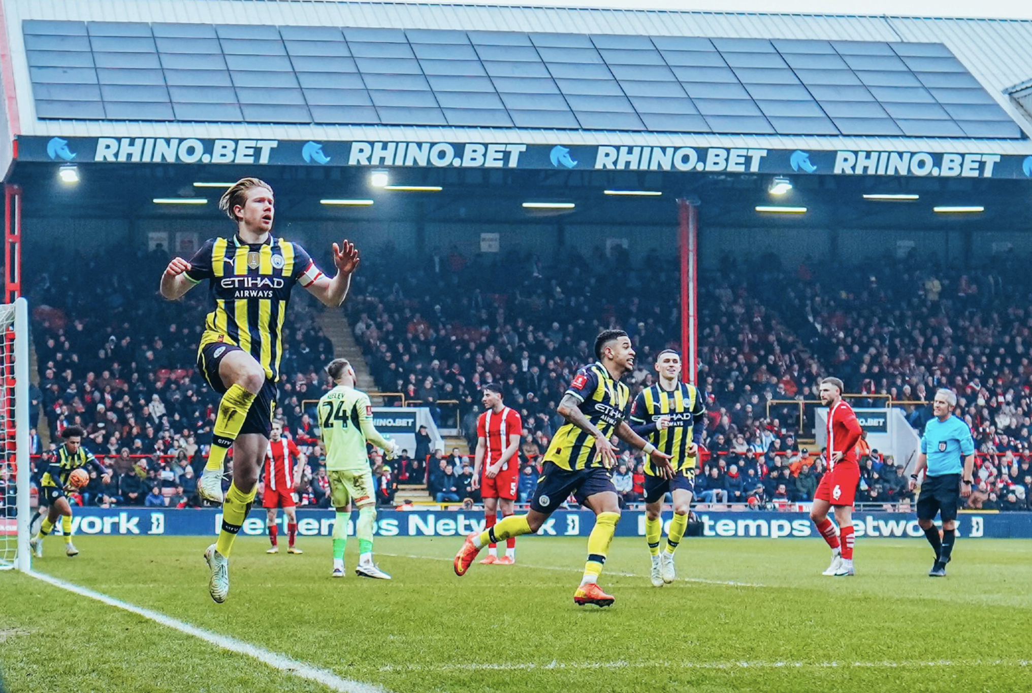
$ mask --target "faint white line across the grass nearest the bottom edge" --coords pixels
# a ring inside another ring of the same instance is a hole
[[[639,661],[616,660],[612,662],[558,662],[547,663],[485,663],[485,664],[398,664],[381,666],[381,671],[477,671],[477,670],[549,670],[549,669],[621,669],[621,668],[681,668],[681,669],[805,669],[805,668],[916,668],[916,667],[974,667],[974,666],[1019,666],[1032,665],[1024,659],[995,661],[909,661],[909,662],[683,662],[683,661]]]

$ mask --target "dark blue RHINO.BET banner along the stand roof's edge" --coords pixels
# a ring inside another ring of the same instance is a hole
[[[708,173],[906,175],[1028,178],[1032,156],[993,152],[804,151],[692,146],[198,139],[194,137],[19,137],[15,159],[63,163],[277,164],[417,168],[519,168]]]

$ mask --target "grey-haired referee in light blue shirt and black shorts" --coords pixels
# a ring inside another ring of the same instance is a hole
[[[910,474],[912,491],[921,472],[925,472],[921,495],[917,496],[917,524],[935,550],[935,564],[928,572],[932,578],[944,578],[946,574],[946,563],[957,540],[957,508],[961,498],[971,495],[974,440],[968,425],[954,416],[955,406],[957,395],[953,391],[939,390],[935,393],[932,403],[935,418],[925,425],[917,466]],[[942,517],[941,538],[934,524],[936,513]]]

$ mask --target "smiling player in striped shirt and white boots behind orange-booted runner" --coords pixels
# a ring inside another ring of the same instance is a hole
[[[674,477],[667,478],[651,460],[645,462],[645,540],[652,556],[650,579],[653,587],[663,587],[677,579],[674,552],[688,526],[688,509],[696,491],[696,460],[706,430],[706,405],[696,386],[679,382],[680,354],[663,350],[655,357],[655,369],[659,382],[638,393],[631,407],[631,427],[670,455],[674,468]],[[660,558],[663,500],[667,493],[674,499],[674,519]]]

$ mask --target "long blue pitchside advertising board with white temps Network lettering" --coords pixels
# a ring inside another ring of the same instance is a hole
[[[301,536],[330,536],[334,514],[331,510],[297,513],[297,531]],[[355,514],[350,525],[354,533]],[[699,513],[703,536],[711,537],[816,537],[816,530],[805,513]],[[1032,538],[1032,513],[961,514],[958,533],[969,538]],[[281,517],[286,524],[286,517]],[[594,516],[587,510],[558,510],[539,531],[543,536],[587,536]],[[669,524],[669,520],[668,520]],[[922,537],[914,516],[906,513],[860,513],[853,519],[857,536]],[[75,508],[72,531],[76,534],[163,534],[171,536],[214,536],[222,526],[217,509],[150,508]],[[453,510],[380,510],[377,534],[380,536],[464,536],[484,526],[483,513]],[[265,514],[252,513],[240,533],[265,533]],[[283,531],[286,531],[284,526]],[[664,528],[666,531],[666,527]],[[645,515],[627,513],[616,526],[617,536],[644,536]]]

